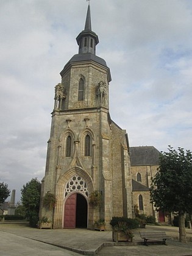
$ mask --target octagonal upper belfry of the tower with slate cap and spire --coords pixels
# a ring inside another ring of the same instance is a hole
[[[55,87],[54,110],[74,108],[108,108],[108,83],[111,75],[105,60],[96,55],[98,35],[91,30],[90,5],[85,29],[76,38],[79,53],[64,66],[62,84]],[[61,94],[62,91],[62,94]]]

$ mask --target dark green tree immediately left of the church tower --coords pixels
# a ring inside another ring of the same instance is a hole
[[[26,210],[26,217],[29,218],[29,225],[36,227],[40,207],[41,183],[37,178],[30,180],[21,189],[21,201]]]

